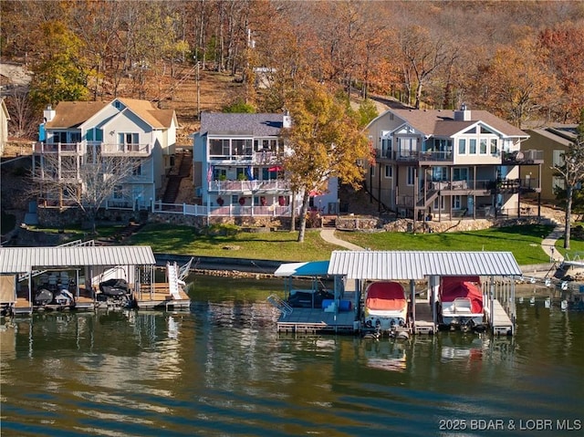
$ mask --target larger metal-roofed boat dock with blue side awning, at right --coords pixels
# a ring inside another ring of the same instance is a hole
[[[522,276],[522,272],[509,252],[334,251],[329,262],[283,264],[276,270],[276,276],[284,276],[287,281],[284,298],[268,297],[280,311],[276,322],[278,332],[364,333],[375,330],[364,326],[363,292],[370,282],[397,281],[409,285],[410,317],[405,327],[391,329],[433,335],[441,319],[437,313],[441,278],[481,276],[485,278],[484,323],[468,327],[489,328],[498,336],[515,332],[515,278]],[[305,281],[311,278],[312,288],[295,288],[292,286],[295,277],[304,277]],[[326,277],[334,283],[334,289],[328,291],[334,292],[335,307],[315,305],[318,277]],[[420,284],[424,288],[416,291]],[[288,305],[287,299],[297,292],[307,296],[305,307],[295,307],[292,300]],[[489,296],[491,299],[487,298]],[[506,305],[502,305],[500,299]],[[341,310],[342,303],[348,302],[349,307],[345,305]]]

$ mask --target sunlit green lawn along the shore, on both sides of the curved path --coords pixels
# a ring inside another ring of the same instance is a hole
[[[519,265],[547,263],[541,250],[541,240],[551,226],[528,225],[476,232],[445,234],[349,233],[337,232],[343,240],[373,250],[453,250],[512,252]],[[325,243],[318,230],[308,230],[306,240],[297,243],[297,233],[247,232],[196,234],[192,227],[168,224],[148,224],[130,237],[128,244],[151,245],[157,253],[200,256],[228,256],[282,261],[328,259],[339,246]]]

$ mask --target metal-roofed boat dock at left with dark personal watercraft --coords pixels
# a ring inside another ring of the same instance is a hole
[[[150,246],[0,247],[0,309],[16,316],[126,307],[188,310],[183,278],[192,262],[180,268],[167,263],[165,280],[156,282]]]

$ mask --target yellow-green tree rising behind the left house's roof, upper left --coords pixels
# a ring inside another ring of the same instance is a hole
[[[30,99],[36,109],[59,101],[87,99],[89,72],[78,36],[60,21],[44,23],[41,30],[45,50],[33,65],[30,84]]]

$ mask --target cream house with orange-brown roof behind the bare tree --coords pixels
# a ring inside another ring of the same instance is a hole
[[[82,190],[83,166],[97,161],[99,155],[130,157],[131,176],[115,187],[103,206],[149,209],[162,195],[176,142],[178,123],[173,109],[157,109],[138,99],[63,101],[55,109],[48,106],[44,115],[33,151],[36,174],[44,174],[50,156],[56,157],[59,177],[78,178]],[[47,206],[67,206],[58,192],[44,192],[42,201]]]

